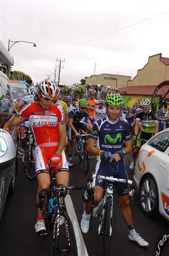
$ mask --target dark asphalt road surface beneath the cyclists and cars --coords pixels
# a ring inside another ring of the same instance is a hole
[[[133,180],[133,171],[129,169],[129,159],[126,156],[126,169],[129,179]],[[77,157],[73,157],[74,167],[70,169],[70,185],[84,186],[87,176]],[[0,221],[0,256],[49,256],[52,255],[52,237],[38,237],[35,234],[36,220],[35,194],[37,180],[29,181],[19,160],[17,183],[12,198],[7,199]],[[95,169],[95,160],[90,161],[90,171]],[[83,202],[80,191],[71,192],[74,209],[80,224],[83,214]],[[136,189],[134,201],[130,200],[135,230],[149,242],[146,248],[140,247],[128,238],[128,228],[123,221],[118,198],[114,193],[113,237],[107,242],[106,256],[152,256],[158,235],[168,227],[168,221],[161,216],[146,217],[139,206],[139,193]],[[83,234],[83,239],[89,256],[100,255],[100,236],[97,235],[98,218],[92,218],[89,232]]]

